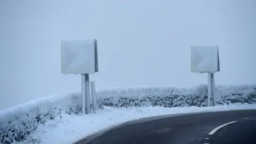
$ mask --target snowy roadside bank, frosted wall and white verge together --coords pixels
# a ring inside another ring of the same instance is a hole
[[[105,105],[105,109],[91,115],[77,115],[81,114],[81,94],[79,93],[33,100],[2,110],[0,111],[0,142],[72,143],[85,135],[143,117],[256,109],[256,105],[249,104],[227,106],[230,103],[256,103],[256,84],[217,86],[218,104],[225,106],[214,108],[204,107],[207,98],[206,85],[190,89],[175,87],[104,89],[99,90],[98,95],[99,103]]]

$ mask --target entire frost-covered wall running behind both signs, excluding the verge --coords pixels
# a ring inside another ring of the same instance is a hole
[[[98,90],[99,103],[106,106],[206,106],[207,86],[189,89],[166,87],[135,87],[129,89]],[[256,84],[217,86],[217,102],[256,103]],[[61,113],[81,113],[81,94],[56,95],[29,101],[23,105],[0,111],[0,143],[27,139],[39,124],[53,118],[61,120]],[[33,140],[31,140],[33,141]]]

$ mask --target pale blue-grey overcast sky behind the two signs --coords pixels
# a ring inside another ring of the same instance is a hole
[[[61,39],[97,38],[104,87],[207,83],[190,72],[191,45],[219,45],[217,84],[256,83],[256,1],[0,0],[0,109],[81,91],[62,75]]]

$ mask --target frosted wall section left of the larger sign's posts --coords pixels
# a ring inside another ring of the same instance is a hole
[[[0,111],[0,143],[23,141],[39,124],[61,117],[61,113],[81,112],[80,94],[37,99]]]

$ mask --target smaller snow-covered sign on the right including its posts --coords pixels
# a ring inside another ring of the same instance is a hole
[[[208,95],[207,106],[211,106],[213,93],[213,106],[216,105],[214,73],[220,71],[218,46],[191,46],[191,72],[207,73]]]

